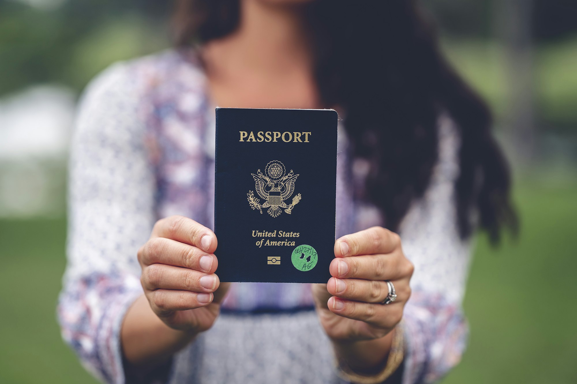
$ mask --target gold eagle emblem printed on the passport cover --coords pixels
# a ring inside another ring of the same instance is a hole
[[[249,201],[250,208],[258,209],[260,213],[263,213],[263,208],[268,208],[267,213],[272,217],[278,217],[284,212],[291,214],[295,205],[301,201],[301,194],[297,194],[293,197],[292,204],[287,205],[284,201],[290,198],[294,193],[294,182],[297,180],[298,175],[295,175],[293,170],[290,170],[286,174],[286,169],[284,164],[278,160],[269,161],[267,166],[264,167],[264,174],[260,169],[255,174],[250,174],[254,179],[254,189],[256,193],[264,200],[264,203],[260,204],[260,199],[254,197],[253,191],[249,191],[246,194]]]

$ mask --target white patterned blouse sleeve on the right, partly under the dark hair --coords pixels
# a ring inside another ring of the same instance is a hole
[[[456,224],[459,142],[447,117],[441,118],[439,135],[439,161],[430,186],[400,229],[404,253],[415,266],[403,315],[404,384],[438,381],[459,363],[467,342],[461,304],[470,242],[460,239]]]

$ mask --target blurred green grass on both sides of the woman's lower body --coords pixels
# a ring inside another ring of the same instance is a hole
[[[478,239],[464,302],[469,348],[444,383],[577,382],[576,191],[524,182],[515,190],[518,242],[492,250]],[[95,382],[55,321],[65,225],[0,221],[0,383]]]

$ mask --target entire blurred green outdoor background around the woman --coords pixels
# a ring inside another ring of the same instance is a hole
[[[577,2],[424,0],[514,166],[518,240],[477,239],[444,383],[577,382]],[[0,0],[0,382],[93,383],[59,336],[66,159],[82,89],[170,47],[170,2]]]

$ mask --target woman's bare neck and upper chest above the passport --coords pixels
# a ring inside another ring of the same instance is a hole
[[[241,0],[237,31],[202,52],[219,106],[312,108],[316,87],[299,6]]]

